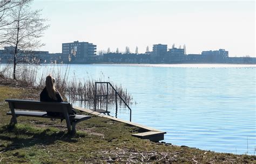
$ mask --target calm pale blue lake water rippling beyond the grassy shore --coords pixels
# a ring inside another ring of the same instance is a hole
[[[138,103],[132,122],[166,131],[165,142],[255,153],[255,65],[71,65],[69,74],[122,84]],[[118,118],[129,120],[129,111]]]

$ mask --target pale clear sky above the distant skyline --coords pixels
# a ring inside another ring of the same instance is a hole
[[[49,19],[41,47],[62,52],[62,43],[87,41],[97,51],[144,53],[153,44],[186,45],[187,54],[226,49],[229,56],[255,55],[255,1],[43,1]]]

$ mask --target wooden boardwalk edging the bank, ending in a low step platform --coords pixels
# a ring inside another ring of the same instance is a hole
[[[147,126],[132,123],[132,122],[129,122],[129,121],[126,121],[126,120],[114,118],[112,116],[107,116],[107,115],[104,115],[103,113],[93,111],[93,110],[90,110],[90,109],[80,108],[78,106],[73,106],[73,108],[75,108],[77,110],[80,110],[80,111],[84,111],[86,113],[90,113],[91,115],[96,115],[96,116],[99,116],[99,117],[105,117],[105,118],[115,120],[117,122],[129,124],[131,126],[140,127],[140,129],[142,129],[143,132],[142,133],[137,133],[137,134],[132,134],[132,136],[134,136],[134,137],[138,137],[138,138],[142,138],[142,139],[149,139],[151,141],[158,142],[160,140],[164,140],[164,134],[166,134],[166,132],[159,131],[157,129],[153,129],[151,127],[147,127]]]

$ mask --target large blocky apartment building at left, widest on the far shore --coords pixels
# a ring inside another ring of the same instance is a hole
[[[62,54],[65,63],[88,63],[96,58],[96,45],[79,41],[63,43]]]

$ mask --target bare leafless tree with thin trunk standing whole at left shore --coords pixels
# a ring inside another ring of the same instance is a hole
[[[42,10],[32,10],[29,0],[21,2],[23,3],[11,9],[8,18],[13,23],[8,25],[6,29],[6,45],[10,47],[10,53],[13,55],[14,79],[16,79],[16,66],[18,63],[35,61],[32,49],[44,46],[40,42],[40,38],[49,27],[49,25],[45,25],[46,19],[41,18]]]

